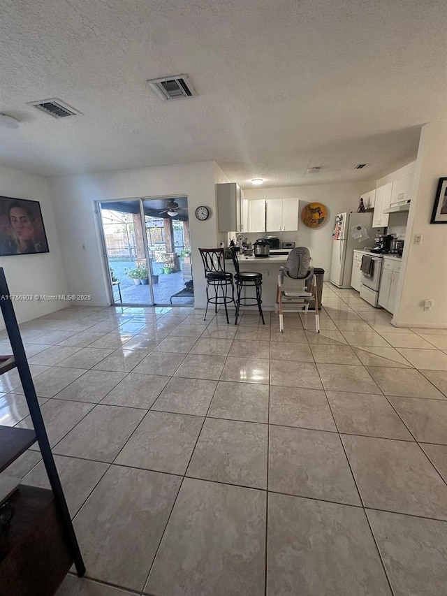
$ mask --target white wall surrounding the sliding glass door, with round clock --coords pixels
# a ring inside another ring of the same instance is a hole
[[[89,304],[110,304],[94,201],[186,195],[195,305],[205,305],[205,280],[198,247],[214,247],[217,243],[215,177],[215,163],[204,161],[50,178],[48,184],[70,292],[91,294],[93,300]],[[194,212],[199,205],[210,208],[207,221],[196,219]]]

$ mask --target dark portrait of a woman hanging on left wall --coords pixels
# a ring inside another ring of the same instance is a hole
[[[0,256],[50,252],[38,201],[0,196]]]

